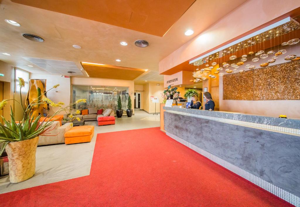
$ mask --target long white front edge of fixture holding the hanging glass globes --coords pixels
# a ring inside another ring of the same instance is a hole
[[[215,49],[215,50],[213,50],[213,51],[211,51],[211,52],[208,52],[208,53],[206,53],[205,55],[202,55],[201,57],[199,57],[199,58],[196,58],[196,59],[193,59],[193,60],[191,60],[190,62],[189,62],[189,64],[191,64],[191,63],[193,63],[193,62],[195,62],[195,61],[199,61],[199,60],[201,60],[202,58],[205,58],[205,57],[207,57],[207,56],[209,56],[209,55],[212,55],[212,54],[214,54],[214,53],[216,53],[216,52],[219,52],[219,51],[221,51],[221,50],[223,50],[223,49],[225,49],[225,48],[228,48],[228,47],[230,47],[230,46],[232,46],[232,45],[235,45],[235,44],[237,44],[237,43],[239,43],[239,42],[242,42],[242,41],[244,41],[244,40],[247,40],[247,39],[249,39],[249,38],[251,38],[251,37],[254,37],[254,36],[256,36],[256,35],[258,35],[258,34],[260,34],[260,33],[263,33],[263,32],[265,32],[265,31],[268,31],[268,30],[271,30],[271,29],[273,29],[273,28],[275,28],[275,27],[277,27],[277,26],[279,26],[279,25],[282,25],[282,24],[284,24],[284,23],[287,23],[287,22],[290,22],[290,21],[294,21],[295,23],[297,23],[298,25],[299,25],[299,22],[297,22],[295,19],[293,19],[292,17],[286,17],[285,19],[282,19],[282,20],[280,20],[280,21],[278,21],[278,22],[275,22],[274,24],[271,24],[271,25],[269,25],[269,26],[267,26],[267,27],[265,27],[265,28],[262,28],[262,29],[260,29],[260,30],[258,30],[258,31],[256,31],[256,32],[253,32],[253,33],[251,33],[251,34],[248,34],[248,35],[246,35],[246,36],[244,36],[244,37],[242,37],[242,38],[240,38],[240,39],[238,39],[238,40],[235,40],[235,41],[233,41],[233,42],[231,42],[231,43],[228,43],[227,45],[224,45],[224,46],[222,46],[222,47],[220,47],[220,48],[217,48],[217,49]]]

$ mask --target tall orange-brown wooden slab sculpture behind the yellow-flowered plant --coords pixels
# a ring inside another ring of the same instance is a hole
[[[42,81],[44,82],[44,84]],[[45,89],[46,89],[46,79],[43,80],[30,79],[29,90],[26,96],[26,106],[29,105],[29,103],[32,103],[32,105],[34,105],[37,102],[41,102],[43,98],[46,98],[46,95],[43,94],[46,91]],[[43,95],[41,96],[41,94]],[[42,114],[42,117],[44,117],[43,116],[44,109],[48,109],[48,105],[46,102],[44,102],[44,104],[34,105],[31,109],[31,113],[34,119],[38,117],[39,114]]]

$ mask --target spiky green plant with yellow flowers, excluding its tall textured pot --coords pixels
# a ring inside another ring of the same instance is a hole
[[[57,88],[58,86],[59,86],[59,84],[53,86],[52,88]],[[19,93],[20,93],[20,98],[21,98],[20,100],[22,100],[21,89],[22,89],[22,87],[25,87],[25,82],[24,82],[23,78],[19,78],[19,87],[20,87]],[[51,90],[51,89],[49,89],[49,90]],[[45,93],[47,93],[49,90],[47,90]],[[29,103],[27,107],[23,106],[22,101],[18,102],[16,99],[8,99],[8,100],[4,99],[0,102],[0,110],[3,109],[3,107],[5,105],[7,105],[7,101],[9,101],[9,100],[13,100],[14,102],[17,102],[22,107],[23,114],[24,114],[23,119],[21,121],[16,122],[15,116],[13,114],[13,110],[10,107],[10,121],[6,120],[4,117],[1,116],[5,125],[0,123],[0,144],[2,144],[1,149],[0,149],[0,155],[3,153],[6,145],[9,142],[29,140],[29,139],[35,138],[39,135],[47,135],[47,133],[53,129],[53,128],[51,128],[50,125],[54,122],[54,120],[50,121],[51,118],[53,118],[59,112],[70,111],[70,106],[72,106],[76,103],[86,102],[86,99],[79,99],[76,102],[67,105],[66,107],[61,107],[61,105],[64,105],[64,103],[62,103],[62,102],[55,103],[48,98],[41,99],[41,97],[45,93],[41,94],[41,92],[39,92],[38,93],[39,96],[35,100],[33,100],[31,103]],[[36,107],[40,104],[45,104],[45,103],[49,104],[52,107],[58,107],[59,109],[51,117],[49,117],[49,119],[47,121],[45,121],[45,119],[44,119],[42,122],[40,122],[40,118],[42,115],[40,114],[40,115],[38,115],[38,117],[35,118],[32,115],[31,109],[34,106]],[[70,116],[72,116],[72,117],[70,117]],[[73,115],[70,115],[70,116],[69,116],[70,118],[73,118]],[[74,117],[74,119],[75,118],[76,117]]]

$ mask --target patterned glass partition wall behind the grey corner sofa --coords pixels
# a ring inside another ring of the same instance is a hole
[[[73,108],[111,108],[116,112],[118,96],[121,96],[122,109],[126,111],[128,93],[129,87],[72,84],[72,102],[86,99],[86,103],[76,104]]]

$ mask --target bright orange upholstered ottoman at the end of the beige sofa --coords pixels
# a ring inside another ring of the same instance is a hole
[[[64,133],[64,143],[90,142],[94,136],[94,126],[74,126]]]

